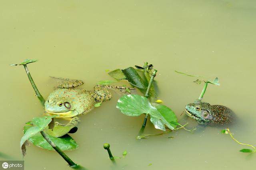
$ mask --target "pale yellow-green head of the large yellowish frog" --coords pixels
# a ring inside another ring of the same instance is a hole
[[[50,115],[58,115],[60,118],[72,118],[78,115],[77,110],[68,98],[48,97],[44,103],[45,111]]]

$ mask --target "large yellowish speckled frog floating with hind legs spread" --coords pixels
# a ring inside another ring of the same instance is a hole
[[[71,118],[67,126],[77,126],[79,122],[77,116],[90,112],[96,101],[110,100],[112,95],[107,89],[118,90],[123,93],[129,91],[125,87],[107,85],[96,85],[94,91],[85,90],[75,88],[84,84],[81,80],[58,79],[66,80],[66,82],[57,86],[58,88],[48,96],[44,106],[48,115],[57,115],[57,118]]]

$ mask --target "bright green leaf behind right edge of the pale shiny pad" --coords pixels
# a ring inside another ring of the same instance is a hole
[[[176,114],[167,106],[162,104],[154,104],[158,112],[162,114],[162,116],[172,125],[172,127],[176,128],[177,124],[173,124],[173,122],[178,122],[178,118]]]

